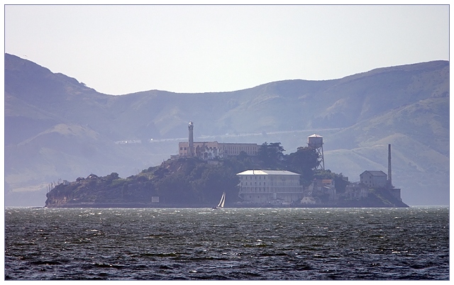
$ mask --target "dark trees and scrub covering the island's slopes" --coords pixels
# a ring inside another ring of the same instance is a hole
[[[334,179],[336,191],[345,191],[348,181],[342,174],[316,170],[319,160],[313,148],[298,147],[289,155],[284,151],[280,143],[263,143],[257,156],[241,152],[236,157],[211,161],[179,157],[127,178],[118,177],[116,172],[105,177],[90,174],[55,186],[46,195],[45,206],[213,206],[223,191],[228,197],[226,203],[233,205],[240,201],[236,174],[247,169],[296,172],[301,174],[304,186],[314,179]],[[153,203],[153,197],[159,197],[159,202]],[[319,200],[323,201],[323,194]]]

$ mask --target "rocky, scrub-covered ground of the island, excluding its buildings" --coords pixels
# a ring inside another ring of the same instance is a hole
[[[208,162],[196,157],[179,157],[162,162],[159,166],[144,169],[137,175],[121,178],[113,172],[105,177],[90,174],[76,181],[61,181],[46,194],[48,208],[211,208],[226,192],[226,208],[382,208],[408,207],[402,199],[393,196],[384,187],[367,188],[367,195],[353,195],[348,179],[329,170],[316,170],[314,150],[300,147],[287,155],[283,164],[295,171],[288,162],[299,155],[296,162],[306,195],[315,203],[288,203],[279,199],[267,203],[251,203],[238,197],[240,179],[236,174],[252,167],[266,167],[259,157],[238,155],[223,160]],[[311,159],[312,157],[312,159]],[[268,162],[270,163],[270,162]],[[282,166],[282,165],[281,165]],[[275,167],[278,167],[275,165]],[[281,167],[283,169],[283,167]],[[320,181],[330,180],[336,185],[336,199],[332,199]],[[350,187],[350,188],[349,188]],[[309,191],[309,189],[311,191]],[[353,188],[355,189],[355,188]]]

